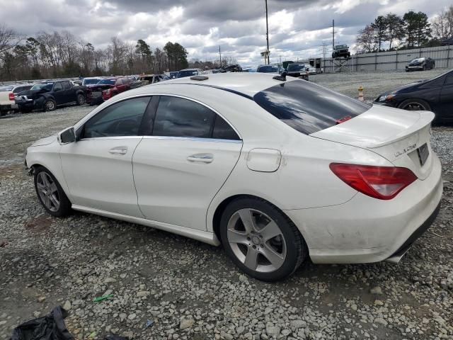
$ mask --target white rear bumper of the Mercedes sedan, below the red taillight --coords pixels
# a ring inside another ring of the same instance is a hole
[[[347,203],[285,210],[299,227],[314,263],[384,261],[408,249],[432,223],[442,197],[441,166],[434,155],[430,176],[392,200],[357,193]]]

